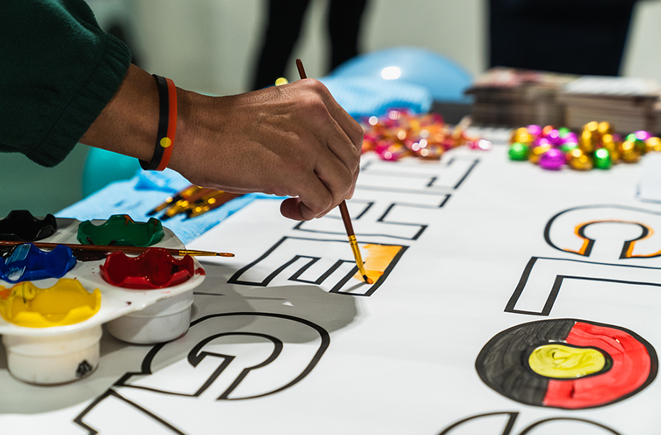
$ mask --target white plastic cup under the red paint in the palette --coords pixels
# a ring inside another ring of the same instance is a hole
[[[163,343],[188,331],[192,305],[193,289],[190,289],[141,311],[109,321],[106,328],[114,338],[128,343]]]

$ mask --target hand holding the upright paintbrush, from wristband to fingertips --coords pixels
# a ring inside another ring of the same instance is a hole
[[[170,167],[198,186],[289,196],[294,220],[353,195],[363,131],[317,80],[229,97],[178,89]]]

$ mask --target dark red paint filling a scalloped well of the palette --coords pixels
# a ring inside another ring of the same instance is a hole
[[[100,266],[109,284],[129,289],[161,289],[188,281],[195,274],[193,257],[172,257],[166,249],[151,247],[139,257],[113,252]]]

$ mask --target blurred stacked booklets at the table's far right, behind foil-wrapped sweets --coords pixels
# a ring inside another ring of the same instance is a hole
[[[481,126],[581,129],[606,121],[618,132],[661,130],[661,88],[652,79],[492,68],[466,93],[474,98],[473,123]]]

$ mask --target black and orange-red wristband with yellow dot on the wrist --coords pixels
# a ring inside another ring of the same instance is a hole
[[[158,133],[151,161],[140,161],[145,171],[163,171],[170,162],[177,130],[177,89],[174,82],[152,74],[158,88]]]

